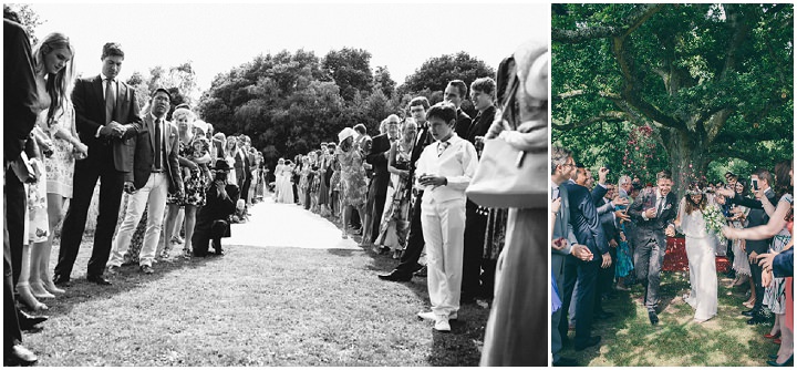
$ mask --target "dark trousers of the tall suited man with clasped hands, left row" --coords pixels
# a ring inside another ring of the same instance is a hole
[[[111,240],[122,205],[123,173],[116,171],[111,145],[90,148],[91,154],[75,162],[72,199],[61,229],[61,247],[55,275],[69,279],[83,240],[94,186],[100,179],[100,212],[94,230],[94,247],[89,259],[89,276],[102,276],[111,254]]]

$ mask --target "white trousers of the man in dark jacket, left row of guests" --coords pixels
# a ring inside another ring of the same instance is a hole
[[[165,173],[152,173],[146,185],[127,198],[127,213],[113,239],[111,259],[107,266],[122,266],[124,255],[131,245],[136,226],[144,214],[146,206],[147,226],[144,234],[144,245],[138,254],[141,266],[152,266],[155,260],[155,250],[161,241],[164,210],[166,209],[166,194],[168,193],[168,177]]]

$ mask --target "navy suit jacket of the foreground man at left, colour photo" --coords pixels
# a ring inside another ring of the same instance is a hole
[[[609,253],[609,244],[600,225],[594,201],[587,187],[576,183],[563,183],[567,188],[570,206],[570,225],[579,244],[586,245],[593,255],[593,260]]]

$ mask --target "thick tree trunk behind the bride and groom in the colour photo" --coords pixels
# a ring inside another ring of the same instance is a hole
[[[708,168],[708,143],[694,131],[660,129],[664,147],[670,154],[673,176],[673,192],[679,197],[686,194],[686,187],[693,181],[705,181]]]

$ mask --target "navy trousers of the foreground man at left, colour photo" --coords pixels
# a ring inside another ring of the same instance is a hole
[[[594,310],[596,284],[600,259],[590,261],[580,260],[573,256],[567,256],[563,268],[562,316],[559,320],[559,335],[567,338],[568,318],[565,312],[570,310],[572,300],[576,299],[576,345],[586,345],[592,332],[592,314]],[[573,294],[573,290],[577,290]]]

